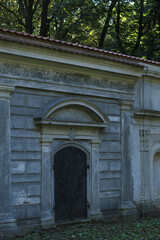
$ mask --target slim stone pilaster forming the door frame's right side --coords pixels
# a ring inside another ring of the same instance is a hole
[[[100,218],[100,183],[99,183],[99,144],[100,141],[92,140],[92,161],[91,161],[91,218]]]

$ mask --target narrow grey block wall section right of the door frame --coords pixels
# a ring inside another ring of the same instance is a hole
[[[103,211],[118,209],[121,191],[120,108],[116,101],[106,101],[104,112],[110,119],[101,131],[100,197]]]

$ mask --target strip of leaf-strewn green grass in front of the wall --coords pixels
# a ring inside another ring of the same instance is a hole
[[[106,223],[103,221],[61,225],[10,240],[160,240],[160,218],[137,222]]]

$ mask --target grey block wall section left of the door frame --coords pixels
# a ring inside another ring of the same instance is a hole
[[[32,223],[40,217],[40,129],[33,115],[41,99],[25,89],[15,89],[11,97],[12,206],[17,220],[32,219]]]

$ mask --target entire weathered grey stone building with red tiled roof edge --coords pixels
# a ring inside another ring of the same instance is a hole
[[[0,29],[0,232],[160,209],[160,63]]]

